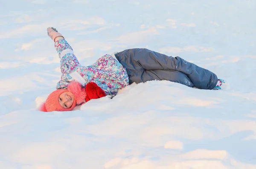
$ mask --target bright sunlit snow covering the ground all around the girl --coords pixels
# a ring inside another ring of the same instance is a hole
[[[0,169],[256,169],[255,0],[0,6]],[[148,48],[207,68],[230,89],[151,81],[76,111],[38,112],[61,76],[51,26],[84,66]]]

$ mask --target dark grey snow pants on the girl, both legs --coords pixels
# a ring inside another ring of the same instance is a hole
[[[126,69],[129,83],[169,80],[189,87],[213,89],[216,74],[180,57],[167,56],[148,49],[127,49],[115,54]]]

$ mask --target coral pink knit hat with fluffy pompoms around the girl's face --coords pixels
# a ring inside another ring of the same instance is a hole
[[[72,104],[72,106],[69,109],[64,109],[59,101],[58,98],[61,95],[61,93],[64,92],[71,92],[75,96],[75,100]],[[39,111],[42,112],[52,112],[52,111],[70,111],[76,107],[76,105],[81,104],[84,102],[86,97],[85,89],[81,86],[79,82],[73,81],[68,86],[67,89],[57,89],[54,92],[52,92],[46,99],[45,103],[43,103],[39,107]]]

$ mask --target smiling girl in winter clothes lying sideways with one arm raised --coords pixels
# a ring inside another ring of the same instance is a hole
[[[116,95],[131,83],[169,80],[198,89],[221,89],[224,80],[207,69],[180,57],[148,49],[127,49],[105,54],[91,66],[81,66],[62,34],[47,28],[61,59],[61,80],[40,107],[40,111],[70,111],[91,99]]]

